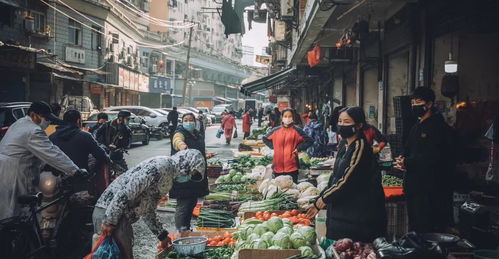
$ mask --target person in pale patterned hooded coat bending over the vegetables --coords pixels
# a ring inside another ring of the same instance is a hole
[[[147,159],[116,178],[102,193],[93,213],[94,233],[112,235],[123,258],[133,258],[132,224],[140,217],[158,237],[159,247],[170,245],[156,206],[174,182],[205,179],[206,162],[198,150],[184,150],[171,157]]]

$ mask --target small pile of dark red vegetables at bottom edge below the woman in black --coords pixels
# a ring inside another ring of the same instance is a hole
[[[361,242],[354,243],[349,238],[336,241],[334,249],[341,259],[376,259],[372,245]]]

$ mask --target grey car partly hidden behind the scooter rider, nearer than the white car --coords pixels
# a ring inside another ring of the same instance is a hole
[[[118,117],[117,111],[106,111],[105,112],[109,118],[109,120],[114,120]],[[82,123],[82,128],[84,130],[88,130],[97,124],[97,115],[98,113],[93,113],[88,117],[88,120]],[[147,126],[144,118],[139,117],[132,113],[130,116],[130,120],[128,121],[128,127],[132,130],[132,139],[130,143],[142,142],[144,145],[149,144],[149,140],[151,139],[150,127]]]

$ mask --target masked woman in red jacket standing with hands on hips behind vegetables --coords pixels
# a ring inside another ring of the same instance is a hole
[[[297,115],[291,108],[282,111],[282,125],[273,128],[265,136],[263,142],[274,149],[272,168],[274,177],[290,175],[298,182],[298,152],[309,148],[314,140],[294,123]],[[299,116],[298,116],[299,117]]]

